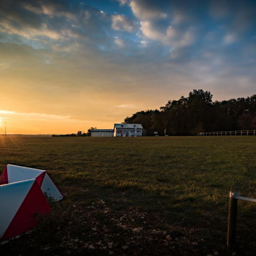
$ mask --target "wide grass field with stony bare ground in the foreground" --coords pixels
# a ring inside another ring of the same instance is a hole
[[[0,150],[0,170],[47,170],[65,196],[1,255],[231,255],[229,191],[256,197],[253,136],[6,137]],[[254,255],[255,220],[239,201],[237,255]]]

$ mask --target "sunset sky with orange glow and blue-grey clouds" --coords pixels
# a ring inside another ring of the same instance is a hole
[[[112,128],[193,89],[251,96],[255,78],[256,1],[0,1],[0,133]]]

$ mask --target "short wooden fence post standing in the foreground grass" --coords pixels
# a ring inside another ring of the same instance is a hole
[[[229,209],[228,209],[228,236],[227,247],[233,249],[236,245],[236,216],[237,216],[237,199],[234,196],[239,196],[237,191],[229,192]]]

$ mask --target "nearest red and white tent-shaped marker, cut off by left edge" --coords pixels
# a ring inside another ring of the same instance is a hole
[[[36,214],[50,206],[35,179],[0,186],[0,241],[18,236],[36,226]]]

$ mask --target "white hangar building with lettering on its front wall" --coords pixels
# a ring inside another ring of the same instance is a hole
[[[114,137],[146,136],[142,124],[114,124]]]

